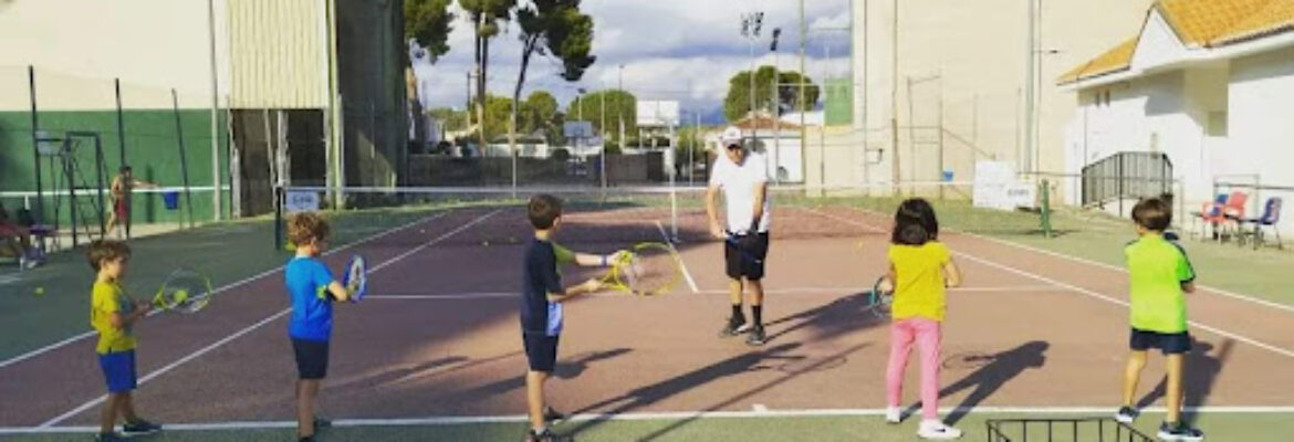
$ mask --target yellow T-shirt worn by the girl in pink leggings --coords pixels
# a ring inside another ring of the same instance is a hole
[[[949,248],[934,240],[921,246],[894,244],[888,255],[895,279],[893,319],[943,321],[947,310],[943,265],[952,258]]]

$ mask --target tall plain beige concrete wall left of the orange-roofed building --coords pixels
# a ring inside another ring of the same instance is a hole
[[[1039,1],[1038,165],[1065,167],[1065,131],[1077,101],[1053,79],[1140,30],[1150,0]],[[894,6],[898,5],[894,43]],[[864,85],[866,107],[858,131],[870,149],[885,149],[885,164],[868,181],[890,176],[898,118],[902,180],[939,172],[933,153],[938,133],[911,136],[908,127],[942,123],[946,167],[969,178],[976,158],[1016,160],[1021,156],[1027,84],[1027,3],[1020,0],[854,0],[857,84]],[[898,57],[894,57],[897,47]],[[897,58],[897,76],[892,74]],[[907,92],[907,80],[927,80]],[[892,97],[897,88],[897,100]],[[942,98],[942,102],[941,100]],[[905,141],[905,137],[908,140]],[[916,143],[912,143],[916,140]],[[911,153],[915,150],[915,153]],[[905,155],[906,154],[906,155]],[[902,156],[914,156],[915,165]],[[911,169],[910,169],[911,167]],[[914,172],[915,171],[915,172]],[[911,176],[912,173],[924,173]],[[960,178],[959,178],[960,180]]]

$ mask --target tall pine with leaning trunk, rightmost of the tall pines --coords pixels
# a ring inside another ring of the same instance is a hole
[[[521,27],[521,67],[512,89],[512,101],[516,103],[521,100],[532,56],[551,56],[560,61],[562,78],[567,81],[580,80],[585,70],[597,61],[597,57],[589,54],[593,50],[593,17],[580,13],[580,0],[532,0],[516,12],[516,22]],[[554,100],[554,109],[555,105]],[[514,110],[514,125],[520,124],[518,112],[519,110]]]

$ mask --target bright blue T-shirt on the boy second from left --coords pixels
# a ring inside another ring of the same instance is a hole
[[[333,273],[320,258],[298,256],[287,261],[283,278],[292,301],[287,335],[309,341],[327,341],[333,335],[333,301],[327,296],[327,286],[334,280]]]

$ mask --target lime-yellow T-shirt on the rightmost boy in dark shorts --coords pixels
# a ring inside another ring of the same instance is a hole
[[[1181,284],[1196,279],[1187,252],[1159,234],[1145,234],[1123,248],[1128,266],[1132,328],[1159,333],[1187,331]]]

